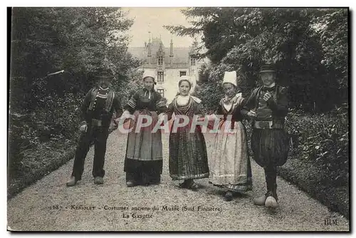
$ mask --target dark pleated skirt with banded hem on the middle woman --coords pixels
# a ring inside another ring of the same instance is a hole
[[[169,175],[173,180],[209,177],[208,156],[199,126],[194,133],[189,127],[178,128],[169,135]]]

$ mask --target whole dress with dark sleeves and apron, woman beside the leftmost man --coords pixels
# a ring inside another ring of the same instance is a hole
[[[150,115],[152,123],[136,132],[137,120],[130,120],[131,132],[127,135],[127,148],[124,171],[126,180],[138,184],[158,184],[162,174],[162,134],[161,130],[152,133],[159,113],[164,113],[167,106],[162,96],[155,90],[138,90],[125,105],[125,110],[135,115]]]

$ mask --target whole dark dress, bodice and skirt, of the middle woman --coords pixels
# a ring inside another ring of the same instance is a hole
[[[201,114],[199,103],[199,98],[189,96],[187,105],[179,105],[176,97],[168,106],[166,113],[169,120],[172,118],[172,113],[176,116],[189,117],[187,126],[177,128],[177,132],[171,130],[169,134],[169,175],[172,180],[209,177],[206,144],[201,127],[197,125],[191,133],[193,116]],[[182,118],[175,120],[182,120]],[[174,128],[174,121],[172,128]]]

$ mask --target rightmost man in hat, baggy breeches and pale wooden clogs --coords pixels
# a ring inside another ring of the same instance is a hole
[[[263,66],[259,73],[263,86],[252,91],[241,113],[252,118],[253,157],[263,167],[267,184],[266,194],[254,199],[253,203],[276,208],[276,167],[284,165],[289,150],[284,125],[288,113],[288,97],[286,88],[276,85],[276,71],[273,66]]]

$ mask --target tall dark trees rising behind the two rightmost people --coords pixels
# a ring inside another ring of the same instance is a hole
[[[190,8],[191,27],[166,26],[180,36],[201,35],[211,81],[237,71],[242,92],[273,63],[290,105],[327,111],[347,101],[347,9]]]

